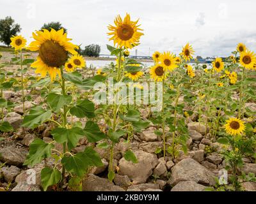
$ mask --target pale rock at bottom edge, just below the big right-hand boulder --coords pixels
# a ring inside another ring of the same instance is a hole
[[[195,181],[181,181],[171,191],[204,191],[204,189],[205,186],[197,184]]]

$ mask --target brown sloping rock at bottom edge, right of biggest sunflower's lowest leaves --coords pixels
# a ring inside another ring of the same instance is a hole
[[[113,182],[108,179],[102,179],[93,175],[88,174],[88,177],[83,180],[83,191],[124,191],[122,187],[115,186]]]

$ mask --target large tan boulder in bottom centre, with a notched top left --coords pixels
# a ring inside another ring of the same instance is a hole
[[[159,161],[156,155],[141,150],[135,150],[134,154],[138,163],[126,161],[124,158],[120,159],[119,173],[120,175],[127,175],[133,181],[133,184],[145,183]]]

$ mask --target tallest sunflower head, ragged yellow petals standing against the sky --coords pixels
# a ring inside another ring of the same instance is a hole
[[[130,15],[127,13],[124,20],[118,15],[115,19],[115,26],[109,25],[108,29],[111,31],[108,35],[113,35],[109,40],[114,41],[114,45],[118,47],[132,48],[134,45],[138,45],[140,37],[143,31],[137,25],[139,20],[131,21]]]

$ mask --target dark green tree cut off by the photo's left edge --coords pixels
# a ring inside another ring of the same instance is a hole
[[[19,24],[14,24],[12,17],[6,17],[0,20],[0,41],[9,47],[11,37],[21,31]]]

